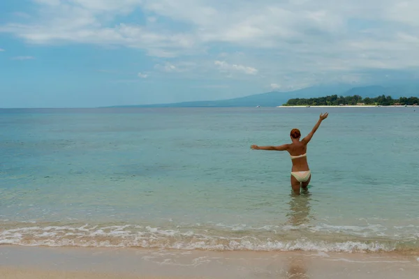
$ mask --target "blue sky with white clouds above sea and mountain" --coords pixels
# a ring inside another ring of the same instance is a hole
[[[417,0],[0,0],[0,107],[419,77]]]

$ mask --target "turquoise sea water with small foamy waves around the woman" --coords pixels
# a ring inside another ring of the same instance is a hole
[[[419,111],[0,110],[0,243],[205,250],[419,251]]]

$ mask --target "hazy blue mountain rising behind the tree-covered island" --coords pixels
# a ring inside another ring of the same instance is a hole
[[[295,91],[279,92],[272,91],[260,93],[240,98],[232,98],[226,100],[203,100],[182,103],[153,104],[153,105],[119,105],[113,107],[276,107],[286,103],[291,98],[318,98],[329,95],[353,96],[360,95],[365,97],[376,96],[392,96],[399,98],[400,96],[418,96],[419,86],[358,86],[353,87],[348,84],[334,84],[311,86]]]

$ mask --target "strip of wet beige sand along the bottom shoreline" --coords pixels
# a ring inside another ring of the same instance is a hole
[[[0,246],[0,278],[418,278],[419,255]]]

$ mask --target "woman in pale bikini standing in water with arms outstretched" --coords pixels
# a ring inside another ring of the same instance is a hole
[[[298,129],[291,130],[291,144],[283,144],[280,146],[257,146],[252,145],[251,149],[260,149],[260,150],[277,150],[277,151],[288,151],[291,156],[291,161],[293,162],[293,168],[291,169],[291,187],[293,188],[294,193],[300,194],[300,188],[307,190],[311,179],[311,172],[309,169],[309,164],[307,163],[307,144],[310,142],[311,137],[321,124],[321,121],[328,118],[328,112],[325,114],[320,114],[320,119],[318,119],[313,130],[300,141],[301,133]]]

